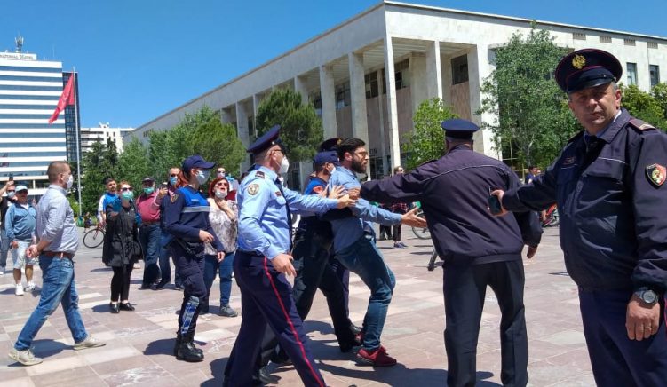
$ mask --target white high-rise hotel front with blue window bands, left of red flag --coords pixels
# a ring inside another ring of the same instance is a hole
[[[48,122],[62,90],[61,62],[0,52],[0,182],[12,177],[41,195],[49,163],[67,161],[65,116]]]

